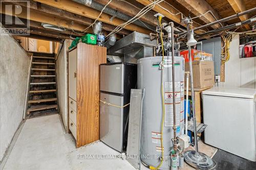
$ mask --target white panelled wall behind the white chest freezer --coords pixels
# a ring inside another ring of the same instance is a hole
[[[239,58],[239,35],[235,35],[229,46],[230,58],[225,63],[225,82],[220,87],[255,88],[256,59]]]

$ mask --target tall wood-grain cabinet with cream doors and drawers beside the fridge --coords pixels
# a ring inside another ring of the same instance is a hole
[[[99,65],[106,48],[78,43],[69,51],[69,129],[76,147],[99,139]]]

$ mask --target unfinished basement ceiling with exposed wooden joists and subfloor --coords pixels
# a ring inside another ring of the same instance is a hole
[[[87,3],[86,3],[87,2]],[[151,0],[34,0],[30,1],[30,9],[26,9],[26,3],[22,2],[4,2],[7,4],[16,4],[21,6],[23,11],[30,10],[30,18],[24,13],[17,14],[16,16],[23,20],[30,20],[30,34],[34,38],[47,39],[52,41],[61,41],[62,39],[74,39],[76,36],[83,36],[87,33],[92,33],[92,27],[88,28],[94,23],[94,20],[100,14],[100,10],[108,4],[98,20],[103,22],[103,33],[108,35],[118,25],[126,22],[127,19],[134,17],[146,5],[152,4]],[[155,1],[158,2],[158,1]],[[204,16],[193,19],[193,26],[200,27],[206,23],[215,21],[216,19],[225,18],[227,16],[243,12],[245,10],[256,7],[256,1],[233,1],[233,0],[165,0],[159,1],[158,5],[152,7],[138,20],[129,25],[126,25],[122,30],[117,32],[117,39],[126,36],[133,31],[144,34],[154,32],[157,26],[157,20],[154,14],[161,13],[165,15],[164,22],[174,21],[175,26],[185,29],[185,25],[181,22],[182,17],[190,16],[195,17],[211,11]],[[123,8],[125,7],[125,8]],[[116,12],[116,14],[114,14]],[[5,11],[2,6],[1,13],[5,15],[12,15]],[[182,14],[181,14],[182,13]],[[114,16],[113,16],[114,15]],[[249,19],[256,15],[256,12],[235,18],[223,23],[223,25],[230,25],[239,21]],[[3,18],[2,17],[2,18]],[[59,32],[49,30],[41,26],[42,23],[50,23],[61,28],[65,31]],[[7,27],[5,25],[5,27]],[[9,26],[10,27],[10,26]],[[220,24],[210,26],[208,28],[198,30],[196,33],[202,33],[222,27]],[[243,26],[242,30],[249,30],[250,26]],[[85,32],[84,30],[87,30]]]

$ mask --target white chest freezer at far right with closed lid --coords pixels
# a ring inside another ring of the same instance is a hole
[[[214,87],[202,92],[205,143],[256,161],[255,89]]]

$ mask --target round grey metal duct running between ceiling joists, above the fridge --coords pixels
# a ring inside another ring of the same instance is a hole
[[[74,1],[76,3],[79,3],[79,4],[82,4],[82,5],[86,5],[90,8],[93,8],[93,9],[98,10],[98,11],[101,11],[104,8],[104,5],[102,5],[100,3],[97,3],[93,0],[72,0],[72,1]],[[103,10],[103,12],[106,13],[106,14],[112,15],[113,16],[112,18],[117,17],[117,18],[123,19],[125,21],[130,20],[130,19],[133,18],[129,15],[126,15],[126,14],[124,14],[122,12],[119,12],[119,11],[113,9],[113,8],[108,7],[108,6]],[[146,29],[148,29],[148,28],[153,29],[153,30],[156,29],[155,27],[149,25],[148,23],[145,23],[145,22],[140,21],[140,20],[136,20],[133,23],[137,26],[140,26],[140,27],[143,27],[143,28],[146,28]]]

